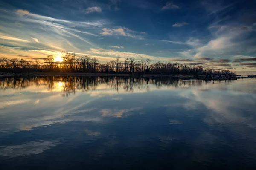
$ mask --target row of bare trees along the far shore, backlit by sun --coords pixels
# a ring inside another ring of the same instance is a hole
[[[0,57],[0,72],[27,73],[27,72],[84,72],[84,73],[139,73],[139,74],[230,74],[230,70],[211,69],[202,65],[181,64],[157,61],[151,64],[150,59],[135,60],[127,57],[123,60],[118,56],[115,60],[99,63],[96,57],[77,56],[69,52],[62,52],[62,62],[56,62],[53,55],[47,55],[44,62],[38,59],[28,61],[22,58],[7,59]]]

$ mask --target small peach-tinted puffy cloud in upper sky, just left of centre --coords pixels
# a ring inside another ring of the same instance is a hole
[[[104,36],[110,36],[110,35],[115,35],[115,36],[125,36],[125,37],[132,37],[135,39],[140,39],[143,40],[144,37],[141,35],[136,35],[137,32],[125,28],[125,27],[119,27],[117,29],[108,29],[108,28],[103,28],[102,29],[103,32],[101,32],[101,35]]]

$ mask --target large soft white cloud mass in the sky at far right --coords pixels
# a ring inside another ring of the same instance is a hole
[[[198,59],[204,57],[219,58],[221,56],[227,58],[231,55],[250,56],[253,52],[256,52],[254,46],[256,39],[251,28],[252,26],[244,26],[244,24],[238,22],[226,22],[225,25],[214,22],[208,27],[209,32],[211,32],[210,39],[200,39],[200,43],[194,43],[189,42],[189,38],[187,44],[192,46],[192,49],[186,51],[188,53],[186,56],[191,55]],[[235,62],[241,61],[236,59]]]

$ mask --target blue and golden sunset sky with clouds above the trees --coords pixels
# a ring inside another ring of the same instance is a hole
[[[254,73],[255,9],[253,0],[1,0],[0,56],[68,51]]]

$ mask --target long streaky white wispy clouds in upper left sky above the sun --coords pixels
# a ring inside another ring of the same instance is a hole
[[[92,10],[99,11],[98,8],[92,8],[88,9],[88,12],[91,12]],[[16,13],[20,16],[19,22],[31,23],[35,27],[44,30],[44,32],[47,32],[47,35],[52,35],[52,33],[55,33],[55,37],[57,37],[56,35],[59,35],[58,39],[55,39],[55,41],[63,39],[64,37],[75,37],[90,44],[91,46],[95,45],[90,41],[90,38],[88,38],[86,35],[99,36],[97,34],[99,34],[101,30],[100,27],[105,24],[104,20],[91,22],[56,19],[52,17],[45,17],[38,14],[32,14],[29,11],[22,9],[17,10]],[[29,30],[28,34],[32,34],[31,29],[32,28],[26,29]],[[44,42],[45,37],[42,37],[40,34],[41,32],[33,33],[32,39],[35,42],[39,43],[38,39],[41,38],[41,45],[49,44],[50,41]],[[81,36],[81,34],[85,35]],[[37,38],[34,38],[34,36]],[[53,46],[51,45],[51,48],[52,47]],[[59,48],[59,50],[61,49]]]

